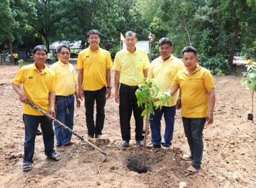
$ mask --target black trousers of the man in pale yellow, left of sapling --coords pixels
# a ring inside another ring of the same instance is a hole
[[[143,140],[143,117],[141,113],[143,111],[142,107],[138,107],[137,98],[135,96],[135,91],[137,89],[131,89],[123,85],[120,86],[119,96],[119,116],[120,116],[120,126],[121,134],[123,140],[129,141],[131,139],[131,112],[133,111],[133,116],[135,119],[135,139]]]

